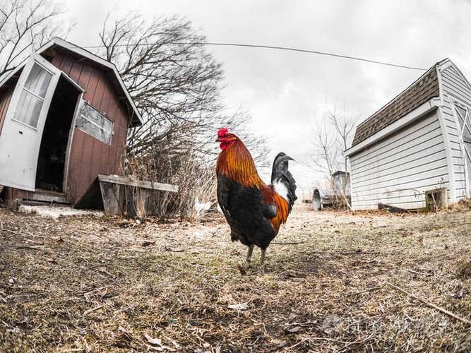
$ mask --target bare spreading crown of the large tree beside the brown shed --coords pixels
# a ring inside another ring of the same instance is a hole
[[[145,124],[129,136],[129,149],[137,154],[161,141],[177,143],[175,152],[186,150],[190,141],[192,150],[213,152],[215,129],[244,130],[250,120],[240,111],[228,113],[222,104],[222,66],[188,20],[174,16],[147,23],[138,14],[108,16],[100,38],[100,54],[117,65],[143,112]]]

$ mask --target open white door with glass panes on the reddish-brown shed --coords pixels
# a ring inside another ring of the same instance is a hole
[[[0,135],[0,185],[34,191],[37,157],[61,71],[32,54],[13,91]]]

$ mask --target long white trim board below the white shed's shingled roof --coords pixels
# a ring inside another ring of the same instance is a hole
[[[365,140],[358,143],[357,145],[354,145],[351,148],[345,150],[345,156],[350,157],[351,155],[354,155],[355,153],[360,152],[361,150],[368,147],[372,143],[375,143],[377,140],[380,140],[381,138],[385,138],[391,133],[398,131],[400,128],[403,128],[404,126],[412,123],[412,121],[419,119],[421,116],[424,116],[425,114],[429,112],[432,112],[433,110],[437,109],[438,107],[441,107],[442,105],[443,105],[443,102],[439,98],[432,98],[428,102],[425,102],[424,104],[419,105],[419,107],[412,110],[412,112],[405,114],[405,116],[403,116],[399,120],[394,121],[393,124],[386,126],[385,128],[375,133],[374,135],[369,136],[369,138],[366,138]]]

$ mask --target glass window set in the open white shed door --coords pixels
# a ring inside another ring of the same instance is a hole
[[[37,121],[40,119],[42,104],[51,79],[52,73],[37,63],[33,64],[21,92],[13,119],[21,121],[32,128],[37,127]]]

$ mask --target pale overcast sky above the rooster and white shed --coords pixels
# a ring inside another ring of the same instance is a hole
[[[429,68],[449,57],[471,78],[471,1],[66,1],[76,20],[68,40],[97,43],[109,11],[186,16],[208,42],[311,49]],[[282,150],[300,189],[320,175],[306,167],[314,112],[345,106],[359,121],[381,108],[422,71],[270,49],[208,47],[225,68],[224,96],[253,116],[251,128]],[[237,133],[237,131],[236,131]]]

